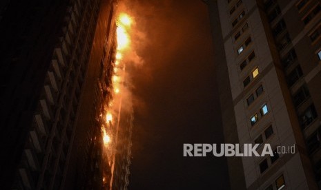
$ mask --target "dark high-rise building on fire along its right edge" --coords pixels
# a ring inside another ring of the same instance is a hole
[[[0,189],[126,189],[133,112],[105,117],[117,1],[0,6]],[[102,125],[118,134],[108,154]]]

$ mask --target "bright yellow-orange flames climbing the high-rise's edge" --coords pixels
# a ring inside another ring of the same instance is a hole
[[[115,63],[114,63],[114,73],[112,76],[112,87],[113,87],[113,99],[117,99],[121,97],[121,87],[124,76],[121,76],[121,70],[124,70],[124,63],[122,62],[124,53],[130,46],[130,36],[128,32],[130,32],[130,25],[132,23],[132,19],[128,16],[128,14],[120,13],[117,19],[117,28],[116,28],[116,36],[117,36],[117,52],[115,55]],[[124,75],[124,74],[123,74]],[[114,103],[112,101],[107,103],[107,114],[106,114],[106,126],[101,127],[101,134],[104,140],[105,147],[110,145],[110,140],[113,138],[111,133],[108,134],[108,126],[110,123],[113,123],[113,114],[115,112],[111,112],[111,110],[115,110]],[[110,126],[109,126],[110,127]]]

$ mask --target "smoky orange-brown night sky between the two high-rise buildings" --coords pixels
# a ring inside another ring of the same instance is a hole
[[[183,143],[220,143],[220,107],[206,5],[130,1],[144,34],[132,69],[135,126],[130,189],[228,189],[224,158],[184,158]]]

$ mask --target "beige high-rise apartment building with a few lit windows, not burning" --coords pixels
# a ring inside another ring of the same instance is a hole
[[[228,158],[231,189],[320,189],[321,2],[204,2],[225,141],[269,143],[274,154]]]

